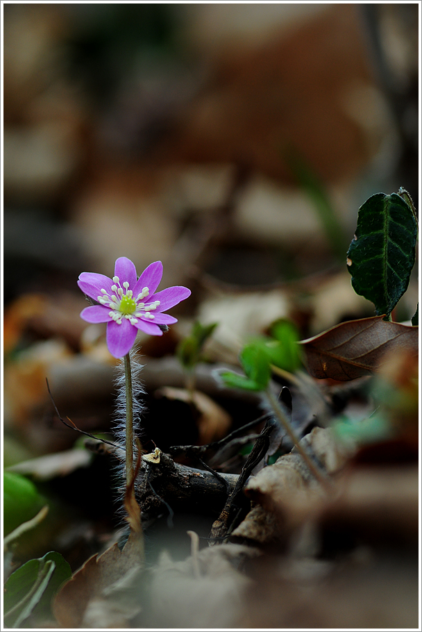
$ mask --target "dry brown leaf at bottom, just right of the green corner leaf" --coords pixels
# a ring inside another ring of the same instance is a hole
[[[134,575],[139,583],[141,569],[140,536],[131,531],[122,551],[116,543],[101,556],[90,557],[62,586],[52,607],[60,626],[70,629],[127,627],[128,619],[140,610],[136,608],[139,596],[136,597]],[[119,594],[117,603],[117,596],[113,594],[122,590],[124,595]],[[135,597],[130,597],[131,592],[135,592]],[[101,613],[101,622],[94,613]],[[109,617],[105,622],[107,613]]]

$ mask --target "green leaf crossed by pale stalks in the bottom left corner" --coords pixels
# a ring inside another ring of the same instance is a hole
[[[69,564],[55,551],[26,562],[4,585],[5,624],[19,627],[31,616],[31,627],[36,627],[51,619],[51,599],[70,578]]]

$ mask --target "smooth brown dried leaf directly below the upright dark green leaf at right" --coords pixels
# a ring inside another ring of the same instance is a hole
[[[351,320],[303,340],[310,374],[319,379],[354,380],[377,371],[387,352],[409,351],[417,356],[419,328],[383,318]]]

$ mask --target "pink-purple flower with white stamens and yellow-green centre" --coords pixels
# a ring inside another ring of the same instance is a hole
[[[79,275],[79,288],[100,303],[82,310],[81,318],[90,323],[107,323],[107,346],[115,358],[128,354],[138,329],[162,335],[165,327],[160,326],[177,322],[177,318],[162,312],[187,299],[191,292],[174,285],[155,293],[161,277],[161,261],[151,263],[137,278],[135,265],[126,257],[117,259],[113,278],[95,272]]]

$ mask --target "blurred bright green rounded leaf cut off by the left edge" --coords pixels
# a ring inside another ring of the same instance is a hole
[[[46,504],[29,479],[15,472],[3,474],[3,527],[4,535],[31,520]]]

